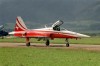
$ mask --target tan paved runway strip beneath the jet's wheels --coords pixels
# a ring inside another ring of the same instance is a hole
[[[0,43],[0,47],[26,47],[25,43]],[[43,47],[45,44],[31,43],[30,47]],[[69,49],[86,49],[86,50],[99,50],[100,45],[84,45],[84,44],[70,44],[70,47],[66,47],[65,44],[50,44],[48,48],[69,48]]]

